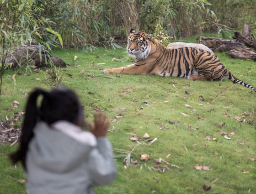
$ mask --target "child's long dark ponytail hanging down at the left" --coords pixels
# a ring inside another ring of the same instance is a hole
[[[48,95],[48,92],[42,89],[36,89],[32,94],[30,94],[27,100],[25,118],[23,121],[22,131],[21,131],[21,142],[19,149],[12,153],[9,157],[13,164],[21,161],[23,167],[26,169],[26,153],[28,149],[28,144],[32,137],[34,136],[33,128],[35,127],[37,120],[41,117],[41,111],[37,107],[37,98],[39,95],[43,94],[44,97]]]

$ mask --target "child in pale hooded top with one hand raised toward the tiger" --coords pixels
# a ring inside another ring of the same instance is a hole
[[[40,107],[37,99],[43,95]],[[21,161],[29,194],[93,194],[93,186],[110,184],[116,176],[109,121],[94,115],[83,131],[83,113],[74,92],[36,89],[27,101],[19,149],[10,155]]]

